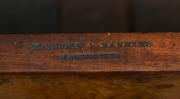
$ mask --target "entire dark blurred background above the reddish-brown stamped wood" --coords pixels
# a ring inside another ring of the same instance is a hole
[[[179,0],[1,0],[0,33],[178,32]]]

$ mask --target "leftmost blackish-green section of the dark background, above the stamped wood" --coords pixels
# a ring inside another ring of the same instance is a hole
[[[1,33],[60,31],[57,0],[1,0]]]

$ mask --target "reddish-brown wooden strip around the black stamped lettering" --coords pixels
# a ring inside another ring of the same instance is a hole
[[[32,50],[32,43],[81,42],[83,49]],[[90,42],[150,40],[151,47],[88,48]],[[180,71],[179,33],[1,34],[0,72]],[[61,54],[112,53],[120,58],[58,60]]]

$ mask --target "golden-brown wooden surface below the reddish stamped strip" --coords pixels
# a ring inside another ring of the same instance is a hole
[[[179,99],[179,72],[0,74],[1,99]]]

